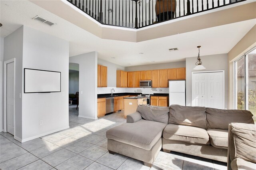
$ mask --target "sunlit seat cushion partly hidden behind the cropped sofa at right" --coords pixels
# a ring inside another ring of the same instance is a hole
[[[211,145],[215,148],[228,149],[228,130],[207,129]]]

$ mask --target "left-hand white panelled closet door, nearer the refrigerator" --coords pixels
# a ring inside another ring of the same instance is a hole
[[[207,74],[192,74],[192,106],[207,105]]]

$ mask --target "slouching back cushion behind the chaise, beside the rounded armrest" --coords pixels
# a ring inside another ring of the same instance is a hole
[[[155,121],[168,124],[169,107],[159,107],[150,105],[139,105],[137,112],[147,121]]]

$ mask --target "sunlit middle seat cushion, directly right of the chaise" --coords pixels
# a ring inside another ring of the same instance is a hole
[[[210,144],[206,130],[198,127],[168,124],[164,128],[163,137],[193,144]]]

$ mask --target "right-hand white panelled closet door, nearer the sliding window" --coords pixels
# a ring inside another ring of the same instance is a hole
[[[207,73],[207,107],[224,109],[223,73]]]

